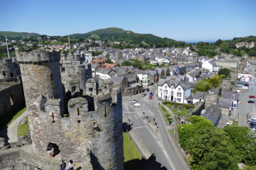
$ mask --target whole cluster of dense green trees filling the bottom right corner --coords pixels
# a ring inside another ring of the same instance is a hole
[[[255,165],[256,135],[249,128],[218,129],[204,117],[178,126],[180,146],[191,154],[192,169],[237,169],[237,163]]]

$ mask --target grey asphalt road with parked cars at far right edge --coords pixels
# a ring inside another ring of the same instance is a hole
[[[248,103],[247,105],[245,103],[247,103],[248,100],[253,100],[250,99],[249,96],[253,95],[256,96],[256,86],[254,84],[256,82],[256,78],[252,78],[250,83],[252,84],[249,87],[249,91],[248,92],[243,92],[240,94],[239,100],[242,102],[242,104],[238,104],[238,113],[240,114],[240,126],[247,126],[247,114],[251,114],[251,113],[255,113],[255,109],[256,106],[253,103]],[[251,88],[253,88],[253,90],[251,90]]]

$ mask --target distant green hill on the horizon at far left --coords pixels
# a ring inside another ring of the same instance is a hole
[[[23,37],[39,37],[40,34],[29,32],[0,31],[0,40],[2,40],[5,36],[7,36],[10,40],[22,40]]]

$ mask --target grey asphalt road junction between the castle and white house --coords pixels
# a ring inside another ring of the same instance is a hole
[[[156,155],[156,169],[190,169],[177,150],[174,141],[168,133],[161,113],[158,109],[158,99],[156,99],[156,86],[152,87],[153,99],[148,99],[150,92],[145,92],[146,96],[136,95],[123,97],[123,116],[129,118],[132,128],[137,131],[148,149]],[[139,100],[136,105],[132,103],[134,99]],[[154,115],[158,122],[158,130],[152,132],[142,120],[142,112],[145,115]]]

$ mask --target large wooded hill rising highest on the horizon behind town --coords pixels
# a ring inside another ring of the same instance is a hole
[[[125,41],[128,43],[134,43],[134,44],[139,44],[142,41],[146,42],[147,44],[158,44],[158,43],[176,44],[177,43],[177,41],[172,39],[161,38],[152,34],[134,33],[132,31],[125,31],[121,28],[97,29],[95,31],[90,31],[88,33],[75,33],[69,36],[75,39],[79,37],[83,37],[85,39],[94,38],[96,40],[106,39],[109,41]]]

